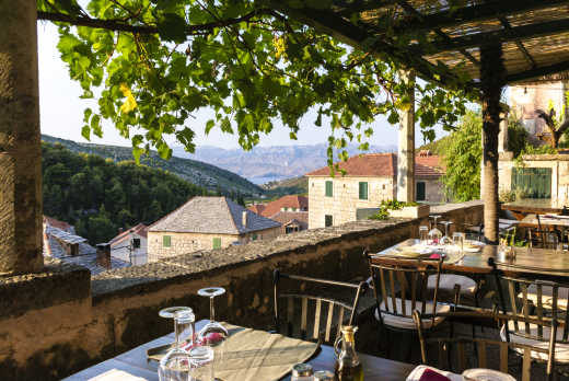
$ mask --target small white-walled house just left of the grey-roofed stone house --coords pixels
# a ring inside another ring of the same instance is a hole
[[[128,262],[132,266],[143,265],[148,262],[148,227],[139,223],[128,230],[121,231],[117,236],[108,241],[111,256]]]

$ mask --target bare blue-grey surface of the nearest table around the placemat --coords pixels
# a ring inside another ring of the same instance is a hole
[[[196,322],[196,331],[199,331],[207,323],[208,320],[200,320]],[[112,370],[118,370],[143,380],[158,381],[158,363],[156,361],[147,360],[147,350],[149,348],[159,347],[172,342],[174,342],[174,333],[142,344],[112,359],[74,373],[63,380],[86,381],[97,379],[102,374]],[[364,354],[359,354],[359,358],[360,362],[362,363],[364,379],[369,381],[404,381],[416,367],[415,365],[398,362]],[[312,365],[314,370],[334,371],[335,360],[336,355],[334,353],[334,348],[328,345],[321,345],[314,356],[306,362]],[[290,373],[280,380],[290,380]]]

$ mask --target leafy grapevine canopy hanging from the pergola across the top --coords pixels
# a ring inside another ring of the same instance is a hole
[[[70,77],[82,97],[97,101],[84,113],[82,134],[101,136],[106,119],[131,140],[137,161],[150,147],[170,158],[169,136],[193,152],[194,115],[204,108],[213,111],[206,131],[236,134],[244,149],[270,132],[275,120],[295,139],[301,118],[316,109],[314,124],[322,125],[325,116],[333,128],[329,165],[332,147],[346,159],[347,141],[365,146],[373,129],[362,125],[375,116],[396,124],[398,112],[410,106],[405,95],[410,91],[418,123],[431,140],[432,126],[450,129],[465,112],[463,91],[403,80],[396,57],[378,59],[348,48],[263,8],[263,1],[90,0],[85,9],[67,2],[71,5],[40,0],[38,10],[97,20],[97,28],[57,23]],[[133,26],[136,33],[129,31]]]

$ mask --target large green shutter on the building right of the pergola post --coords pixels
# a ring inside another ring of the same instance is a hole
[[[551,198],[551,169],[512,169],[512,190],[515,189],[524,190],[526,198]]]

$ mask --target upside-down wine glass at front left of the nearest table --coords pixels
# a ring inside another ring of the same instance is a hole
[[[182,348],[181,336],[191,330],[196,316],[191,309],[179,310],[174,313],[175,342],[173,347],[162,357],[158,367],[160,381],[187,381],[191,367],[190,354]],[[191,337],[191,334],[189,334]]]

